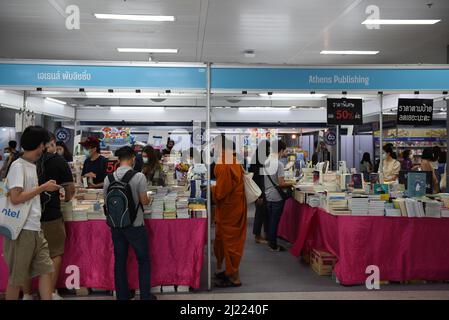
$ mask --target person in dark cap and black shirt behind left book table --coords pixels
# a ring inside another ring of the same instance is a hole
[[[89,188],[103,188],[103,181],[106,177],[106,158],[100,154],[100,140],[96,137],[88,137],[84,142],[80,142],[84,148],[83,171],[81,175],[88,179]]]

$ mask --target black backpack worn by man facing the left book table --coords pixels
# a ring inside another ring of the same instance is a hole
[[[129,170],[118,181],[114,174],[108,175],[109,187],[104,203],[106,222],[111,228],[126,228],[133,225],[137,217],[140,203],[134,203],[133,193],[129,182],[137,171]]]

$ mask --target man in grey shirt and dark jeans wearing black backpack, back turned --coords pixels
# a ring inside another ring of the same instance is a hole
[[[115,255],[115,290],[118,300],[129,300],[126,269],[129,246],[133,248],[139,264],[141,300],[156,300],[151,294],[150,250],[147,229],[143,220],[143,205],[148,205],[145,176],[134,171],[136,154],[131,147],[122,147],[115,153],[120,166],[104,181],[105,214],[111,227]]]

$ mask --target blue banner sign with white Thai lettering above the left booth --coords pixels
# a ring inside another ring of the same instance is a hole
[[[1,64],[0,86],[204,89],[206,68]]]

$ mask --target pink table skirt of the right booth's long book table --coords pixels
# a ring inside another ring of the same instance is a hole
[[[281,220],[293,223],[292,210],[298,232],[290,252],[331,252],[343,285],[364,284],[369,265],[379,267],[381,280],[449,280],[449,219],[333,216],[290,199]],[[285,233],[285,227],[280,229]]]

